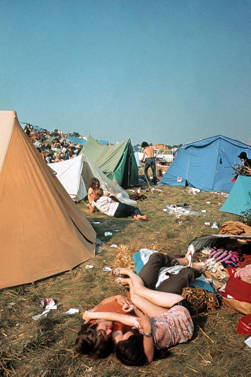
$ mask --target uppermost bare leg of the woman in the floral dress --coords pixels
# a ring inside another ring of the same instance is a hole
[[[128,275],[130,277],[135,294],[138,294],[138,296],[141,296],[160,307],[170,308],[175,303],[184,299],[184,297],[179,294],[154,291],[146,288],[141,277],[136,275],[131,268],[121,268],[120,274]]]

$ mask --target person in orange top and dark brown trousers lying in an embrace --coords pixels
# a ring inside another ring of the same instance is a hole
[[[161,253],[154,253],[150,256],[148,263],[141,269],[140,275],[145,281],[145,285],[151,289],[155,289],[155,284],[158,279],[158,272],[159,269],[163,266],[172,266],[175,264],[181,264],[184,266],[192,265],[192,256],[194,253],[194,249],[192,251],[189,249],[187,255],[185,258],[182,259],[174,259],[170,256],[166,256]],[[167,258],[167,259],[166,259]],[[208,260],[209,261],[209,260]],[[185,274],[176,274],[172,275],[172,279],[170,279],[169,283],[172,282],[172,284],[169,284],[169,288],[172,291],[171,293],[181,294],[184,287],[189,285],[187,284],[188,279],[191,280],[195,279],[197,275],[199,276],[201,274],[200,271],[203,271],[207,269],[210,266],[210,261],[205,261],[202,264],[198,265],[195,269],[189,267],[184,268],[183,270],[187,270],[187,275],[185,277]],[[147,266],[148,265],[148,266]],[[150,273],[148,273],[148,267],[150,267]],[[195,271],[192,271],[195,270]],[[155,271],[155,277],[154,277],[154,271]],[[181,272],[181,271],[180,271]],[[112,270],[113,276],[119,276],[119,268]],[[116,279],[119,279],[120,284],[126,284],[126,281],[124,282],[121,280],[121,277],[116,277]],[[169,280],[169,279],[167,279]],[[176,281],[176,283],[175,283]],[[163,283],[164,284],[164,283]],[[164,285],[161,284],[162,288],[164,287],[166,289],[166,292],[168,292],[168,285],[165,283]],[[175,288],[176,287],[176,288]],[[158,291],[161,291],[161,289],[158,289]],[[176,291],[176,292],[175,292]],[[124,313],[123,311],[123,305],[124,304],[130,305],[131,301],[129,297],[125,298],[121,295],[108,297],[107,299],[103,300],[99,305],[94,307],[89,312],[96,312],[98,311],[114,311],[115,313]],[[125,313],[124,313],[125,314]],[[98,321],[99,322],[99,321]],[[126,333],[128,331],[128,327],[126,328],[126,325],[123,325],[120,322],[113,322],[111,321],[109,323],[98,323],[95,321],[85,323],[81,330],[78,333],[78,337],[76,339],[75,343],[75,351],[80,354],[89,354],[93,358],[102,358],[108,356],[111,352],[111,343],[110,340],[116,344],[118,342],[119,337],[121,336],[121,333],[118,331],[123,331],[123,333]],[[103,330],[103,331],[100,331]]]

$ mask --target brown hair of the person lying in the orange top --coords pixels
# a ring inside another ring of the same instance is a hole
[[[97,335],[97,324],[86,323],[81,326],[74,349],[79,354],[88,354],[93,359],[102,359],[111,352],[110,343],[102,333]]]

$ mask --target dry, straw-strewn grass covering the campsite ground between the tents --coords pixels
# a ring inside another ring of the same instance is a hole
[[[110,245],[127,245],[134,251],[146,247],[164,253],[186,253],[187,245],[196,236],[217,233],[204,224],[236,220],[234,215],[219,212],[225,201],[222,195],[199,193],[193,195],[181,187],[161,187],[163,193],[146,193],[145,202],[138,207],[149,216],[148,221],[115,219],[95,212],[90,215],[84,204],[79,207],[93,225],[97,237],[105,242],[105,251],[91,259],[92,270],[84,266],[36,284],[12,288],[0,293],[0,375],[1,376],[238,376],[251,375],[251,349],[244,344],[248,336],[237,335],[241,314],[226,307],[201,313],[194,319],[195,333],[187,344],[170,349],[165,359],[151,365],[126,367],[112,354],[104,360],[75,356],[73,345],[81,325],[81,312],[92,308],[103,298],[123,290],[114,285],[111,276],[102,271],[114,266],[116,249]],[[183,201],[199,215],[178,219],[163,212],[167,204]],[[206,202],[210,201],[210,204]],[[221,203],[221,204],[219,204]],[[205,214],[201,210],[205,209]],[[116,230],[118,230],[116,232]],[[112,236],[105,237],[104,232]],[[198,255],[198,257],[200,257]],[[11,271],[10,271],[11,273]],[[53,297],[62,305],[50,311],[46,318],[34,321],[41,313],[43,297]],[[11,309],[5,306],[13,302]],[[79,314],[64,314],[69,308],[79,308]],[[17,326],[17,323],[19,325]],[[206,334],[206,335],[205,335]]]

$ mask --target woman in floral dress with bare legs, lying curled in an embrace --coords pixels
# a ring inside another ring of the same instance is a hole
[[[128,279],[122,279],[122,284],[129,285],[131,300],[135,305],[126,304],[123,309],[134,310],[138,318],[135,320],[135,317],[125,314],[86,311],[83,319],[86,322],[90,319],[116,320],[132,326],[131,331],[122,334],[116,345],[117,357],[123,363],[151,363],[154,360],[155,349],[165,349],[191,339],[193,322],[190,305],[184,297],[149,290],[131,269],[120,268],[120,273],[129,276]]]

